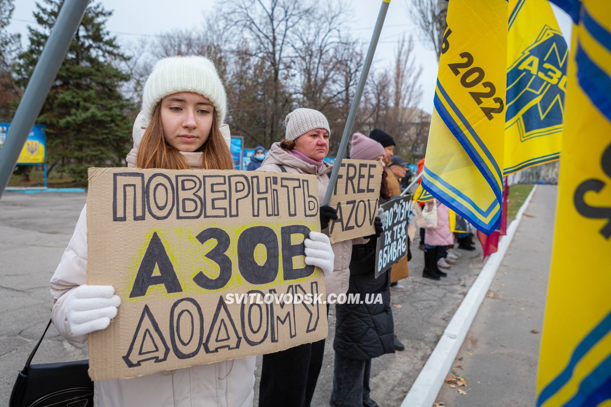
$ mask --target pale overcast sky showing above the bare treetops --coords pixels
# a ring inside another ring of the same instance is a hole
[[[331,0],[334,1],[334,0]],[[376,49],[374,64],[377,67],[390,67],[394,59],[397,40],[401,35],[414,35],[415,57],[417,63],[422,65],[420,76],[423,95],[420,108],[426,112],[433,110],[433,93],[437,77],[437,59],[430,49],[422,45],[419,34],[409,18],[409,5],[411,0],[393,0],[389,6],[384,27]],[[104,8],[114,10],[109,18],[107,28],[111,34],[116,35],[119,43],[128,44],[160,32],[172,29],[184,29],[202,23],[203,15],[213,9],[214,0],[179,0],[168,2],[166,0],[103,0]],[[353,15],[349,16],[350,29],[368,41],[378,17],[381,1],[379,0],[352,0],[349,2]],[[570,19],[554,5],[560,29],[570,35]],[[8,27],[9,32],[21,33],[24,46],[27,45],[27,25],[35,25],[32,11],[35,9],[35,0],[17,0],[13,20]],[[34,23],[34,24],[33,24]],[[570,43],[570,41],[567,41]]]

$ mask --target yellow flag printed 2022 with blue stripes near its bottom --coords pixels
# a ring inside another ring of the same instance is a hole
[[[452,0],[422,186],[486,234],[500,222],[507,0]]]

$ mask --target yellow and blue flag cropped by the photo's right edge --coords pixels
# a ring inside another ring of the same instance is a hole
[[[536,405],[611,405],[611,9],[574,18]],[[604,260],[602,260],[604,259]]]

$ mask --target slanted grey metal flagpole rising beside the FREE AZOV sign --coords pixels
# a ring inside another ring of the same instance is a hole
[[[356,93],[354,99],[350,105],[350,112],[348,113],[348,120],[344,126],[342,134],[342,141],[340,147],[337,149],[337,156],[335,156],[335,162],[333,163],[333,171],[331,171],[331,178],[329,179],[329,185],[327,186],[327,192],[324,194],[323,205],[328,205],[331,201],[331,195],[335,189],[335,182],[337,182],[337,173],[342,165],[342,158],[348,145],[348,139],[350,138],[350,132],[354,124],[354,118],[356,118],[356,111],[359,108],[360,97],[363,95],[365,88],[365,82],[367,82],[367,76],[369,74],[369,68],[371,67],[371,61],[373,60],[373,54],[376,52],[376,46],[378,46],[378,39],[380,32],[382,31],[382,25],[384,24],[384,18],[386,18],[386,12],[390,0],[382,0],[380,11],[378,13],[378,21],[376,26],[373,28],[373,34],[371,34],[371,41],[369,42],[369,49],[367,49],[367,56],[365,57],[365,65],[363,65],[363,71],[360,73],[359,84],[356,87]]]

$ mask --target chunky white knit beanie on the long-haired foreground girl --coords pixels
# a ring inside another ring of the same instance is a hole
[[[161,99],[178,92],[195,92],[210,99],[216,109],[219,125],[225,123],[227,95],[210,59],[182,56],[159,60],[142,92],[142,113],[147,121],[150,121]]]

